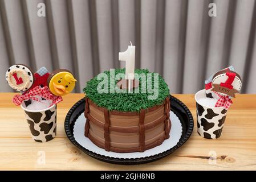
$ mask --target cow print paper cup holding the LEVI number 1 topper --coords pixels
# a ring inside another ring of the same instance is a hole
[[[195,95],[197,105],[197,133],[207,139],[216,139],[221,136],[227,110],[224,107],[210,107],[200,103],[201,98],[206,98],[205,89]]]

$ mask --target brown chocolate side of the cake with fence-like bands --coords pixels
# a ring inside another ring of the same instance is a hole
[[[106,151],[143,152],[169,138],[169,97],[140,112],[109,111],[86,98],[84,135]]]

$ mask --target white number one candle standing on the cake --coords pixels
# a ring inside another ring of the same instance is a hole
[[[125,79],[128,80],[128,92],[131,92],[131,81],[134,79],[135,46],[128,46],[124,52],[119,52],[119,60],[125,61]]]

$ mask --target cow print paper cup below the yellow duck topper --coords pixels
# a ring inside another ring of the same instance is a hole
[[[29,123],[32,139],[35,142],[48,142],[56,136],[56,105],[43,110],[28,110],[24,102],[21,104],[25,118]]]

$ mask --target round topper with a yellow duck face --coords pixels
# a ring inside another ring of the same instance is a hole
[[[59,69],[48,77],[48,87],[55,96],[64,96],[75,88],[77,80],[67,69]]]

